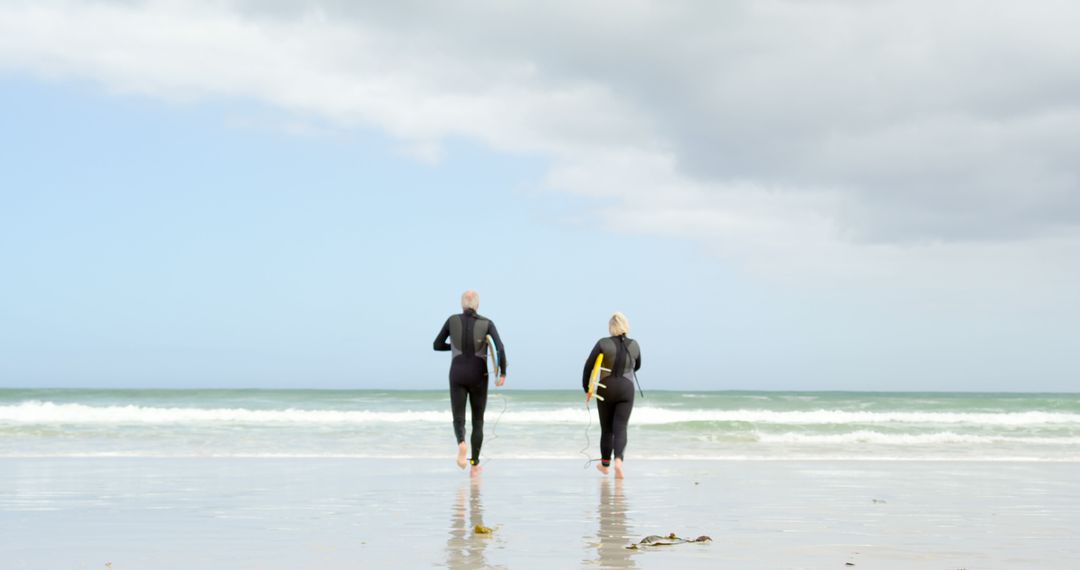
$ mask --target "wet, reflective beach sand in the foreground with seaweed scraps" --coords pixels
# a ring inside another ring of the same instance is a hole
[[[0,459],[3,568],[1075,568],[1080,464]],[[490,527],[476,534],[474,527]],[[649,534],[707,544],[639,551]],[[854,565],[848,566],[849,564]]]

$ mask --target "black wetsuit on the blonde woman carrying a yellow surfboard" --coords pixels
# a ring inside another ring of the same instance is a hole
[[[596,341],[581,375],[581,386],[586,394],[589,376],[600,353],[604,354],[600,366],[611,369],[610,372],[600,371],[599,383],[605,388],[596,389],[596,394],[604,398],[596,399],[596,409],[600,416],[600,458],[607,465],[611,461],[612,451],[616,459],[623,459],[622,453],[626,449],[626,424],[630,423],[630,412],[634,408],[634,372],[642,367],[642,349],[636,340],[626,336]]]

